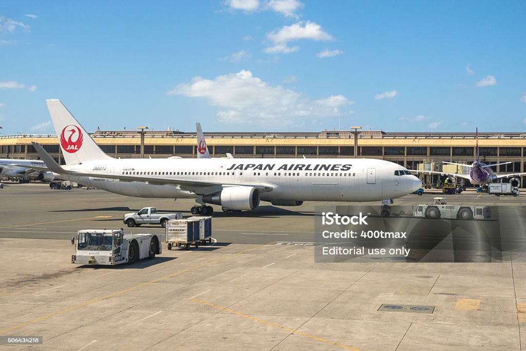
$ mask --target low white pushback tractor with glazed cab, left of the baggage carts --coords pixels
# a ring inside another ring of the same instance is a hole
[[[75,245],[75,237],[72,238]],[[162,247],[155,234],[124,234],[123,229],[85,229],[77,234],[76,253],[71,263],[119,265],[154,258]]]

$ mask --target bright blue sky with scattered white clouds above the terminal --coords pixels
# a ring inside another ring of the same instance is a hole
[[[2,135],[524,131],[526,2],[3,1]]]

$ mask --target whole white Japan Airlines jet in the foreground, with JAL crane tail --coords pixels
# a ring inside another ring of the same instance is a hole
[[[398,198],[421,186],[395,163],[350,158],[115,159],[106,155],[59,100],[47,100],[66,166],[36,142],[50,171],[64,179],[136,197],[195,198],[193,214],[250,210],[304,201],[365,202]]]

